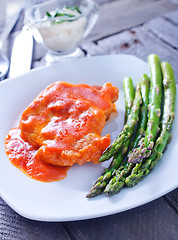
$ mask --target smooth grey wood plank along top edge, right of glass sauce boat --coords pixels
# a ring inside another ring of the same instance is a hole
[[[175,9],[178,9],[178,5],[167,0],[122,0],[104,4],[100,8],[98,22],[88,39],[101,39],[143,24],[156,16]]]

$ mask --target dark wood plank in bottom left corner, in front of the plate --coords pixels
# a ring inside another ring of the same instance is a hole
[[[62,223],[31,221],[15,213],[0,198],[1,240],[70,240]]]

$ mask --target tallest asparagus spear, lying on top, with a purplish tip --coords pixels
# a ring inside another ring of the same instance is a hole
[[[144,158],[150,156],[159,130],[162,101],[162,72],[159,57],[155,54],[149,55],[148,63],[151,81],[147,129],[145,137],[139,142],[139,147],[129,154],[128,162],[141,162]]]

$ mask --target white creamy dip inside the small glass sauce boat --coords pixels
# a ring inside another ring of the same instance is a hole
[[[72,13],[73,11],[67,11]],[[66,12],[65,12],[66,13]],[[76,14],[75,15],[80,15]],[[83,38],[87,19],[84,16],[73,21],[64,21],[57,23],[54,19],[47,18],[45,21],[33,25],[37,33],[37,41],[43,44],[51,51],[72,52]]]

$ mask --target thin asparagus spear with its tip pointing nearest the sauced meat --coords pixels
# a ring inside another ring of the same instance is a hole
[[[141,94],[140,94],[140,85],[136,87],[136,95],[131,108],[131,112],[128,116],[127,122],[124,125],[123,130],[116,138],[114,143],[106,149],[106,151],[101,155],[99,162],[104,162],[113,157],[120,149],[124,147],[126,141],[131,139],[135,129],[135,125],[138,122],[139,109],[141,104]]]

